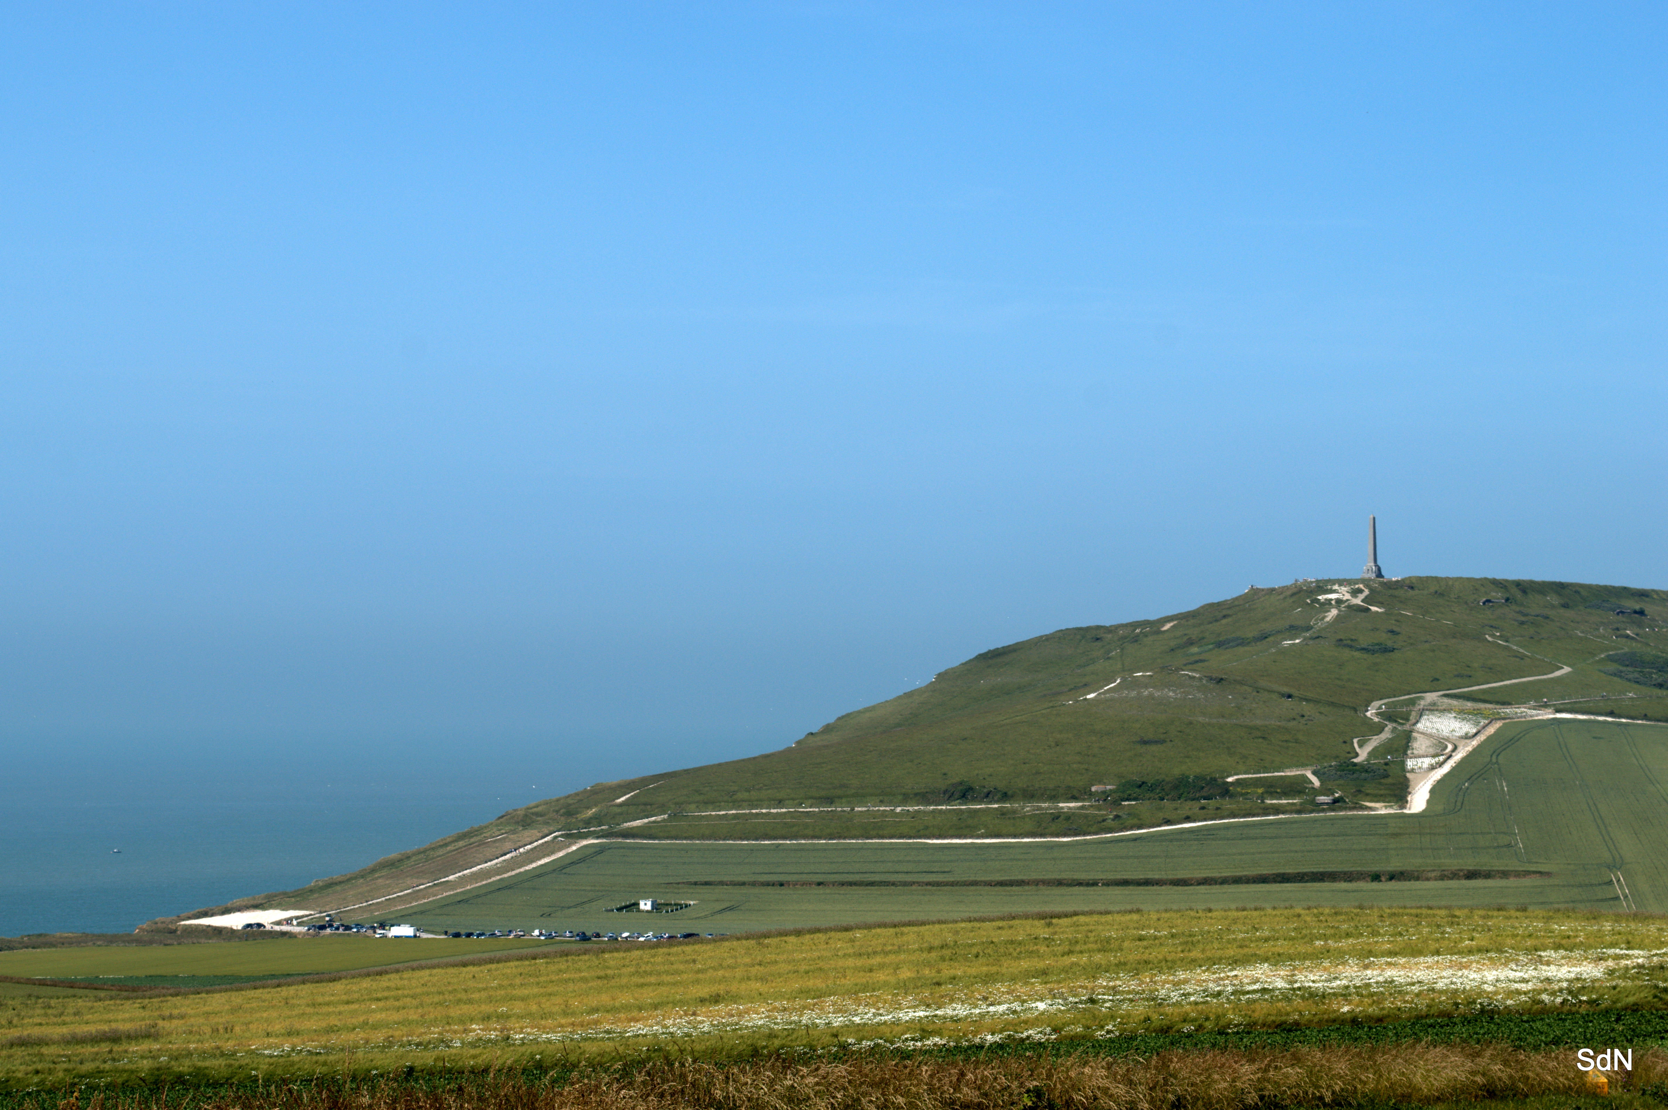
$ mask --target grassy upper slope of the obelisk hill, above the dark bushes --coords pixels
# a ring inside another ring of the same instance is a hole
[[[1189,613],[1051,632],[984,652],[786,750],[599,783],[507,817],[612,823],[719,807],[1083,800],[1093,785],[1124,778],[1349,758],[1351,737],[1378,732],[1361,717],[1376,698],[1558,665],[1575,672],[1475,697],[1608,695],[1615,700],[1591,707],[1668,720],[1668,680],[1638,680],[1668,675],[1630,673],[1606,658],[1620,650],[1623,660],[1668,665],[1655,655],[1668,650],[1668,635],[1656,632],[1668,623],[1663,592],[1488,578],[1364,585],[1363,603],[1318,600],[1334,590],[1309,582]],[[624,795],[632,797],[615,802]]]

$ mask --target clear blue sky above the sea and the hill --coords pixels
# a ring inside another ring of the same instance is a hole
[[[554,795],[1369,512],[1391,575],[1665,587],[1665,32],[12,5],[0,745]]]

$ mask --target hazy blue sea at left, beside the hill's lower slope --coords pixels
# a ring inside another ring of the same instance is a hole
[[[490,758],[382,745],[8,753],[0,937],[130,932],[153,917],[304,887],[564,792],[524,778]]]

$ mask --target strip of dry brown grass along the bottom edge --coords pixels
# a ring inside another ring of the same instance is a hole
[[[1668,1075],[1668,1053],[1635,1058],[1638,1087]],[[776,1057],[734,1065],[696,1060],[565,1080],[522,1075],[425,1085],[272,1085],[98,1095],[85,1110],[1271,1110],[1351,1103],[1438,1103],[1576,1095],[1586,1078],[1571,1052],[1488,1045],[1399,1045],[1266,1052],[1161,1052],[1149,1058],[994,1057],[927,1060],[859,1055]],[[83,1110],[73,1097],[43,1108]]]

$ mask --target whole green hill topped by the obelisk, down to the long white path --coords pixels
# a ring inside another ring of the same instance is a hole
[[[1449,692],[1448,705],[1546,703],[1663,722],[1665,615],[1661,590],[1560,582],[1251,588],[1186,613],[992,648],[779,752],[597,783],[362,872],[239,905],[395,908],[525,868],[562,848],[555,833],[1071,835],[1266,815],[1269,795],[1313,807],[1314,788],[1296,775],[1223,782],[1289,768],[1318,768],[1324,788],[1349,803],[1399,805],[1408,782],[1396,757],[1406,733],[1374,747],[1369,762],[1351,762],[1354,740],[1379,733],[1369,705]],[[1536,678],[1565,667],[1561,677]],[[1490,683],[1511,685],[1478,688]],[[1381,717],[1406,723],[1404,707]],[[1146,802],[1119,805],[1138,800]]]

